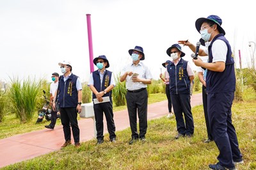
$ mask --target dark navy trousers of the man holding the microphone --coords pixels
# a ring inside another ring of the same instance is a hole
[[[236,129],[232,125],[231,107],[234,92],[208,93],[207,112],[211,126],[211,134],[220,155],[218,160],[225,167],[234,167],[233,160],[243,157],[239,150]]]

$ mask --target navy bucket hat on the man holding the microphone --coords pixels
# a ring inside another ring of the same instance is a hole
[[[213,21],[216,25],[217,25],[217,28],[218,28],[218,31],[220,33],[223,33],[223,35],[225,35],[225,31],[224,29],[221,27],[221,24],[222,24],[222,20],[220,17],[218,17],[217,15],[210,15],[208,16],[207,18],[199,18],[196,20],[196,29],[197,31],[200,33],[200,29],[201,29],[201,26],[202,24],[205,22],[205,21]]]

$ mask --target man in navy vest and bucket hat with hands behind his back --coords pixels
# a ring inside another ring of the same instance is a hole
[[[190,105],[190,84],[195,74],[188,61],[182,59],[185,53],[182,52],[179,44],[173,44],[166,50],[166,53],[172,58],[172,62],[167,65],[167,72],[170,77],[170,95],[178,130],[175,139],[185,135],[192,137],[194,121]]]

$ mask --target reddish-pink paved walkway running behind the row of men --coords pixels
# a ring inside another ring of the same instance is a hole
[[[191,97],[191,107],[202,104],[202,94],[198,93]],[[161,118],[168,114],[167,100],[148,105],[148,120]],[[114,120],[117,130],[124,130],[129,127],[127,110],[114,113]],[[79,120],[80,142],[89,141],[94,137],[92,119],[81,118]],[[106,122],[104,122],[104,133],[106,133]],[[26,134],[14,135],[0,140],[0,168],[15,164],[23,160],[38,157],[60,150],[65,142],[62,126],[56,126],[54,130],[45,128]],[[74,144],[74,141],[72,141]]]

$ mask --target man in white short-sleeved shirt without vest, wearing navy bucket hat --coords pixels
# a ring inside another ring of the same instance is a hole
[[[146,141],[148,107],[147,84],[151,84],[152,75],[148,67],[141,62],[141,60],[145,59],[142,47],[136,46],[134,49],[128,50],[128,52],[131,55],[132,63],[129,63],[129,65],[123,68],[120,81],[125,81],[127,89],[125,98],[132,132],[129,144],[132,144],[138,139],[142,142]],[[134,73],[138,73],[138,75],[132,76]],[[137,131],[137,111],[140,134],[138,134]]]

